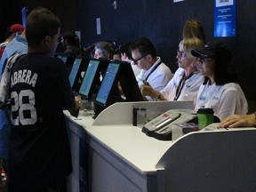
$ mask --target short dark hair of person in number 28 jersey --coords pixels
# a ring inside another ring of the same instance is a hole
[[[60,28],[60,20],[48,9],[39,7],[29,13],[26,25],[28,46],[41,44],[45,36],[55,36]]]

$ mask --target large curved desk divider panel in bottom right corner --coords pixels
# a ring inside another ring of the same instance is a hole
[[[163,168],[159,191],[253,191],[256,129],[190,132],[156,164],[156,170]]]

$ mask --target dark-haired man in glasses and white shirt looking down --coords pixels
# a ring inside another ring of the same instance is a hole
[[[131,45],[131,51],[132,61],[141,69],[139,76],[136,76],[140,89],[150,84],[153,89],[162,90],[173,75],[161,58],[156,57],[154,44],[143,37]],[[145,100],[154,100],[154,98],[147,96]]]

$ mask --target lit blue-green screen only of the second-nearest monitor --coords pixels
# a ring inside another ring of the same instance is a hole
[[[82,84],[79,89],[79,94],[89,98],[93,83],[96,81],[97,73],[99,72],[100,60],[90,60],[85,72]]]

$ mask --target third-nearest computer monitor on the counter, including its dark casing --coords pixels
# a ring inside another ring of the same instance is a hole
[[[81,84],[81,80],[83,78],[83,70],[86,70],[87,68],[87,63],[85,58],[76,58],[73,62],[73,66],[71,68],[71,71],[69,73],[68,79],[69,79],[69,83],[73,89],[73,91],[77,91],[80,87],[79,80],[80,80],[80,84]]]

